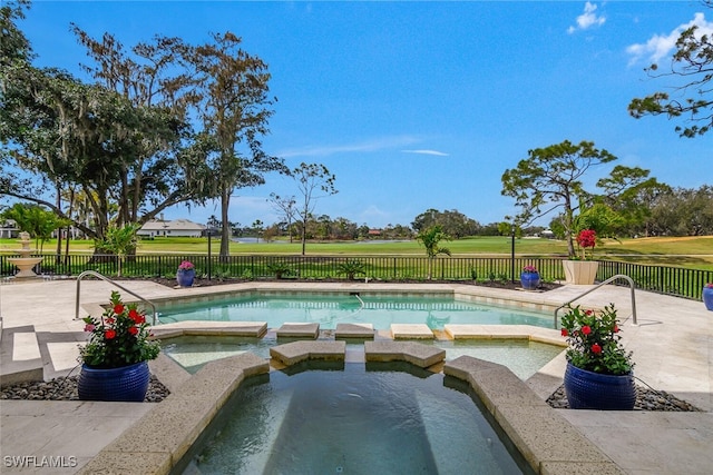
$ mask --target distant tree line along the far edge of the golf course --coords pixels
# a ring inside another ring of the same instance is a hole
[[[642,198],[643,199],[643,198]],[[655,236],[711,236],[713,235],[713,186],[704,185],[697,189],[671,188],[661,186],[656,192],[647,195],[645,207],[638,207],[634,218],[625,218],[625,202],[599,202],[586,208],[579,217],[579,227],[599,228],[595,220],[607,220],[607,231],[603,237],[655,237]],[[616,211],[616,212],[615,212]],[[232,222],[234,237],[260,237],[265,241],[285,237],[299,238],[302,221],[286,221],[263,226],[256,221],[250,226]],[[208,221],[211,225],[211,220]],[[215,219],[214,226],[219,226]],[[439,211],[433,208],[413,218],[410,226],[389,224],[374,228],[368,224],[356,224],[343,217],[331,218],[328,215],[310,216],[306,221],[309,240],[361,240],[361,239],[414,239],[416,236],[434,226],[440,226],[451,239],[471,236],[509,236],[512,225],[498,221],[481,225],[457,209]],[[559,239],[565,238],[561,217],[554,217],[548,226],[516,226],[516,236],[538,236],[546,229]]]

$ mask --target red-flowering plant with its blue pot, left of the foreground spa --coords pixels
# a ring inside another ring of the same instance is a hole
[[[104,314],[84,321],[89,339],[79,346],[79,398],[143,402],[150,378],[147,362],[160,352],[159,343],[149,339],[146,315],[113,291]]]

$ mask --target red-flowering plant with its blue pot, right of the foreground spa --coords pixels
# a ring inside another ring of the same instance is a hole
[[[614,304],[597,313],[569,307],[565,393],[573,409],[631,410],[636,402],[632,352],[622,346]]]

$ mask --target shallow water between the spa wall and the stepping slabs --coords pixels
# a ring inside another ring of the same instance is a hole
[[[445,349],[446,360],[468,355],[498,363],[510,368],[524,380],[563,350],[558,346],[521,339],[419,340],[419,343]],[[208,362],[245,352],[254,353],[261,358],[270,358],[270,347],[277,344],[274,338],[186,336],[162,342],[162,350],[189,373],[196,373]],[[348,343],[346,350],[350,349],[363,350],[363,344]]]

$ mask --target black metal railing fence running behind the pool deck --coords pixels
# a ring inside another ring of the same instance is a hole
[[[38,274],[78,276],[85,270],[95,270],[107,276],[117,276],[117,256],[90,255],[45,255],[36,267]],[[138,255],[121,260],[123,277],[167,277],[176,276],[178,265],[189,260],[195,265],[196,276],[204,278],[274,278],[276,267],[285,267],[289,278],[324,280],[346,278],[341,268],[348,261],[360,263],[364,274],[356,278],[370,280],[510,280],[519,279],[525,266],[537,267],[545,281],[564,280],[561,258],[516,257],[438,257],[430,260],[416,256],[211,256],[207,255]],[[6,256],[0,256],[0,276],[10,276],[14,266]],[[515,276],[512,273],[515,271]],[[208,275],[209,274],[209,275]],[[703,286],[713,281],[713,271],[678,267],[649,266],[615,260],[599,260],[597,280],[606,280],[624,274],[636,283],[636,287],[660,294],[691,299],[701,299]]]

